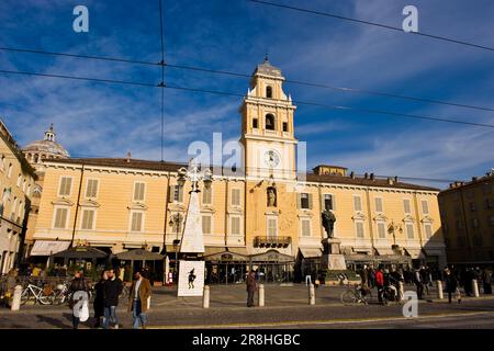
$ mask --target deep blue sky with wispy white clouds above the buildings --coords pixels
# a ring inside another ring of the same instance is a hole
[[[274,1],[274,0],[273,0]],[[334,0],[280,3],[401,26],[418,9],[419,31],[494,46],[494,2]],[[137,4],[138,3],[138,4]],[[87,5],[89,33],[72,31]],[[494,107],[494,53],[400,32],[263,7],[245,0],[164,1],[166,60],[251,73],[269,53],[291,80]],[[0,46],[160,60],[157,0],[2,0]],[[155,67],[0,50],[0,69],[158,83]],[[245,93],[248,79],[166,69],[175,86]],[[21,145],[50,123],[74,156],[160,159],[160,91],[0,73],[0,116]],[[494,113],[287,83],[296,101],[439,115],[494,124]],[[238,139],[240,98],[166,90],[165,159],[186,161],[193,140]],[[494,131],[299,105],[295,135],[308,167],[357,173],[469,179],[494,167]],[[445,184],[436,184],[445,186]]]

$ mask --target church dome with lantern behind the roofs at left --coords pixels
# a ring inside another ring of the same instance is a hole
[[[45,132],[45,138],[43,140],[36,140],[24,148],[25,158],[30,163],[40,163],[44,158],[69,158],[70,154],[56,141],[56,134],[53,125]]]

